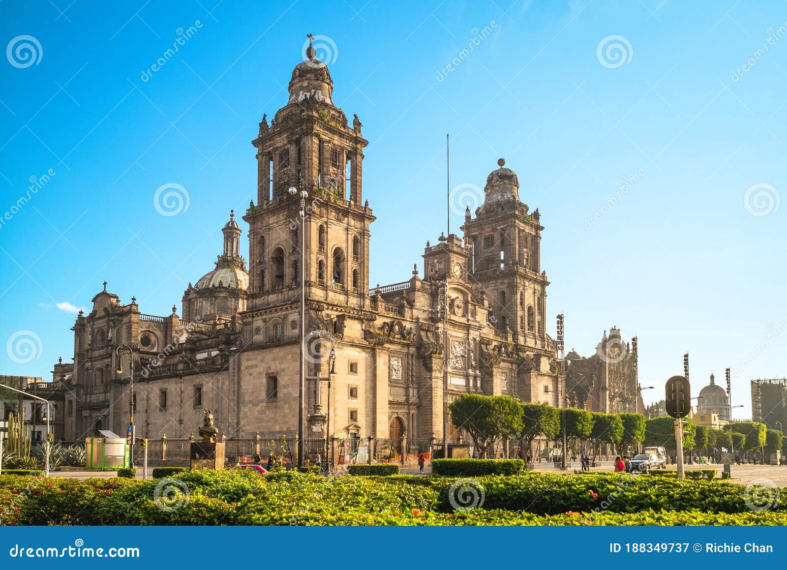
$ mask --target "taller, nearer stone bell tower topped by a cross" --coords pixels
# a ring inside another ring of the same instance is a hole
[[[316,58],[309,35],[306,59],[290,77],[287,104],[252,141],[257,149],[257,204],[249,205],[249,309],[291,302],[305,271],[309,301],[363,308],[368,302],[369,224],[362,200],[363,149],[355,116],[350,125],[333,102],[334,83]],[[307,191],[305,244],[301,198]],[[305,267],[301,268],[301,250]]]

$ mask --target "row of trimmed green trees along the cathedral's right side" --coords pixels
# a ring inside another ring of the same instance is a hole
[[[499,441],[518,439],[522,449],[532,451],[535,439],[556,441],[563,435],[563,414],[551,405],[519,402],[510,396],[463,394],[449,409],[453,424],[467,431],[484,456]],[[676,450],[674,420],[669,416],[645,420],[639,413],[567,408],[565,421],[569,449],[576,450],[577,442],[589,441],[596,453],[603,444],[615,446],[622,455],[630,454],[641,443]],[[780,431],[769,430],[759,422],[733,422],[723,429],[711,429],[695,426],[689,418],[684,421],[684,453],[698,450],[710,455],[722,447],[735,452],[763,448],[775,451],[784,444]]]

